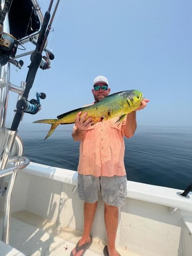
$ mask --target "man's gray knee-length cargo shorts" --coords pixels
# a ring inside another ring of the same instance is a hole
[[[78,174],[78,196],[81,200],[94,203],[101,195],[104,203],[121,207],[126,200],[126,176],[94,177]]]

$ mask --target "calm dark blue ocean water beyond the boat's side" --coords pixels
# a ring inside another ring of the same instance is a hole
[[[22,124],[18,135],[24,155],[32,162],[76,170],[79,142],[73,141],[73,125],[59,125],[44,140],[50,125]],[[125,138],[127,180],[185,189],[192,183],[192,127],[138,126]]]

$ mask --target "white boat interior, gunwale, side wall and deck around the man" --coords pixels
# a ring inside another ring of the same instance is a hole
[[[52,239],[57,237],[65,241],[60,242],[62,249],[67,244],[66,250],[73,248],[83,230],[83,202],[78,198],[76,185],[77,172],[73,170],[30,163],[20,171],[13,190],[12,218],[20,222],[20,233],[30,230],[25,227],[23,230],[22,223],[32,226],[32,231],[27,232],[21,241],[14,241],[12,232],[18,227],[11,230],[10,244],[25,254],[41,255],[38,251],[45,252]],[[119,209],[116,239],[121,255],[190,255],[192,198],[191,194],[182,198],[180,193],[179,189],[127,181],[127,199]],[[0,200],[3,212],[3,197]],[[96,253],[93,255],[102,255],[107,241],[103,211],[100,198],[91,231],[95,238],[90,248]],[[39,236],[43,235],[52,236],[46,248],[40,242]],[[54,253],[56,248],[47,255]]]

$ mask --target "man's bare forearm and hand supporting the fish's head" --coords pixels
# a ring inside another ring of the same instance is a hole
[[[136,111],[144,109],[148,101],[150,100],[149,99],[142,100],[139,108]],[[126,116],[126,122],[124,125],[124,135],[127,138],[131,138],[137,129],[136,111],[133,111],[127,114]]]

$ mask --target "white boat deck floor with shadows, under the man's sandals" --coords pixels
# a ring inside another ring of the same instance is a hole
[[[3,221],[3,215],[0,218]],[[0,225],[2,226],[2,225]],[[0,229],[2,232],[2,230]],[[12,214],[10,245],[28,256],[61,256],[70,255],[72,249],[81,237],[81,232],[70,228],[58,228],[29,211],[19,211]],[[84,255],[103,255],[106,243],[98,238],[93,238],[93,243]],[[118,249],[121,256],[139,256],[131,251]],[[3,254],[2,254],[3,253]],[[22,256],[13,248],[7,247],[0,256]]]

